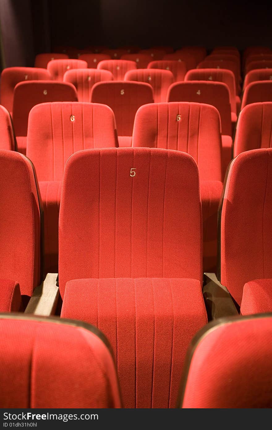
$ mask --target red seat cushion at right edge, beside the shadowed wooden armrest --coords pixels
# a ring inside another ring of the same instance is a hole
[[[272,311],[272,279],[256,279],[244,284],[242,315]]]

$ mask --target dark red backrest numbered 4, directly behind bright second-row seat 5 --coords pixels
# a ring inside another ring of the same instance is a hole
[[[174,83],[168,89],[167,101],[211,104],[220,113],[222,134],[232,135],[230,92],[225,83],[210,81]]]

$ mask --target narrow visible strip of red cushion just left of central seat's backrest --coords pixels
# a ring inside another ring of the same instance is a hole
[[[39,182],[44,211],[44,269],[58,273],[58,215],[61,181]]]

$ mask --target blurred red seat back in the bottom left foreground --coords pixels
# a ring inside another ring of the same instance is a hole
[[[97,334],[49,319],[0,318],[1,408],[119,408],[113,358]]]

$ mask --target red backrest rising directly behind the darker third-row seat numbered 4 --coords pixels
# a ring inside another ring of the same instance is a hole
[[[208,80],[225,83],[229,87],[231,111],[237,114],[235,76],[232,71],[227,69],[193,69],[186,73],[184,80]]]

